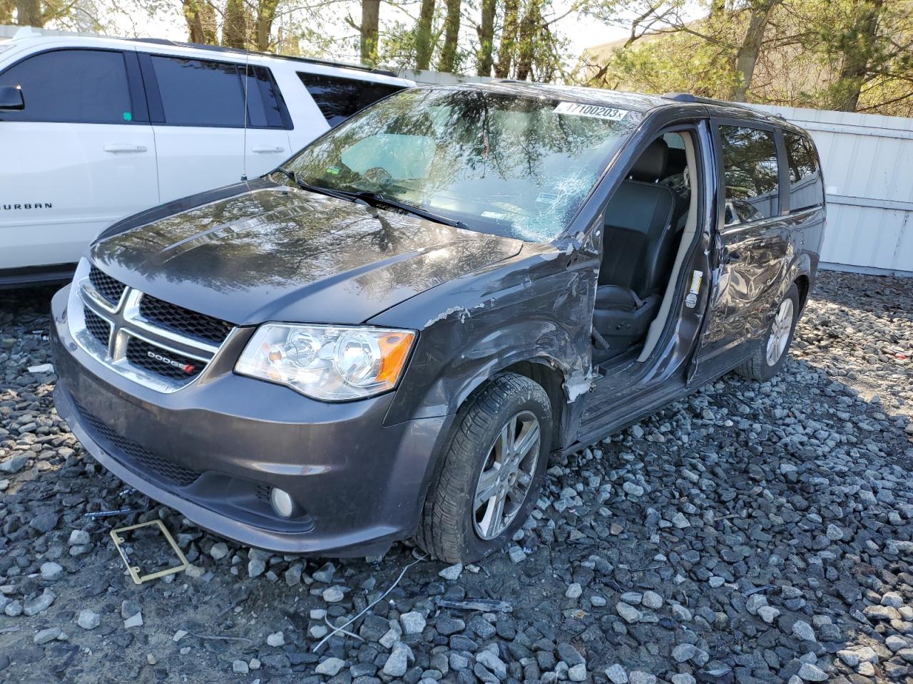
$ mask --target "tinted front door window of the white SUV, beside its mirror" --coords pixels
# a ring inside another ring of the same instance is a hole
[[[53,50],[0,74],[0,86],[21,86],[26,109],[0,119],[66,123],[129,123],[130,88],[123,55],[110,50]]]

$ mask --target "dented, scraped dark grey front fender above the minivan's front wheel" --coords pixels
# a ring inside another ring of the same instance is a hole
[[[526,244],[487,273],[437,286],[375,316],[378,326],[425,323],[386,421],[456,412],[486,379],[520,361],[561,382],[566,403],[590,387],[590,326],[598,258],[578,242]],[[570,413],[561,422],[571,429]]]

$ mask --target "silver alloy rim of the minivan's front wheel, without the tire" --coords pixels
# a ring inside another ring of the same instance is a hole
[[[530,411],[520,411],[501,428],[486,454],[473,495],[472,523],[480,538],[496,538],[517,517],[530,493],[540,440],[539,419]]]

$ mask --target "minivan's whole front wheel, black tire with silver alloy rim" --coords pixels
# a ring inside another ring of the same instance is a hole
[[[416,543],[447,563],[502,547],[530,514],[551,451],[551,402],[515,373],[492,380],[457,416],[425,498]]]

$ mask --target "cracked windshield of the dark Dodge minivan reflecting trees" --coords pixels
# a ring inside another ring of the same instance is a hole
[[[478,90],[410,90],[288,165],[300,181],[374,192],[483,233],[557,237],[635,127],[624,109]]]

